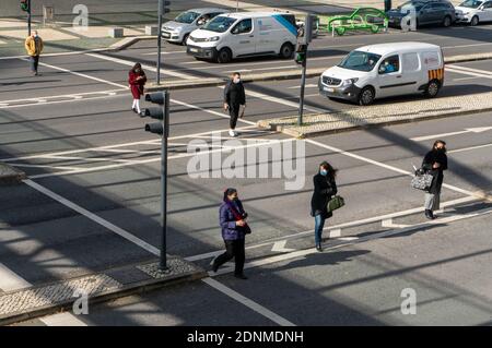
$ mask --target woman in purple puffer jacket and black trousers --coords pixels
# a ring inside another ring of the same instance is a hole
[[[243,208],[236,189],[225,190],[219,216],[222,238],[225,243],[225,252],[213,260],[212,269],[216,272],[220,266],[234,257],[234,276],[239,279],[247,279],[243,273],[245,261],[244,242],[245,236],[250,233],[251,230],[246,223],[248,215]]]

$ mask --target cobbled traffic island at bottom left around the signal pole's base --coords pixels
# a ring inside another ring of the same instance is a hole
[[[208,276],[202,268],[177,256],[169,256],[167,266],[163,273],[157,262],[148,262],[2,293],[0,325],[71,310],[82,293],[87,295],[91,305]]]

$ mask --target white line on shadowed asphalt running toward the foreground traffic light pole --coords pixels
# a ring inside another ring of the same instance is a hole
[[[108,230],[115,232],[116,235],[125,238],[126,240],[132,242],[136,245],[139,245],[140,248],[147,250],[148,252],[159,256],[161,253],[159,251],[157,248],[155,248],[154,245],[149,244],[148,242],[141,240],[140,238],[134,237],[133,235],[127,232],[126,230],[124,230],[122,228],[119,228],[118,226],[109,223],[108,220],[105,220],[104,218],[89,212],[87,209],[81,207],[80,205],[62,197],[61,195],[48,190],[47,188],[34,182],[31,179],[26,179],[23,180],[24,183],[26,183],[27,185],[30,185],[31,188],[33,188],[34,190],[47,195],[48,197],[57,201],[58,203],[71,208],[72,211],[75,211],[77,213],[85,216],[86,218],[89,218],[90,220],[93,220],[94,223],[104,226],[105,228],[107,228]]]

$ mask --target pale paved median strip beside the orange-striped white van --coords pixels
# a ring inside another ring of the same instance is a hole
[[[492,92],[433,99],[422,97],[421,100],[354,107],[347,111],[308,113],[304,116],[304,124],[301,127],[297,125],[297,116],[260,120],[258,125],[304,139],[371,125],[413,122],[489,110],[492,110]]]

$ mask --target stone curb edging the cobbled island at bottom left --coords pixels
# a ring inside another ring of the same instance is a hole
[[[201,268],[190,262],[187,262],[180,257],[174,257],[174,259],[179,259],[180,262],[184,262],[188,265],[192,265],[194,271],[167,276],[167,277],[161,278],[161,279],[154,278],[154,279],[131,283],[129,285],[124,285],[121,287],[118,287],[117,289],[109,289],[109,290],[105,290],[105,291],[101,291],[101,292],[91,295],[87,297],[87,300],[90,301],[91,304],[103,303],[103,302],[119,299],[122,297],[128,297],[131,295],[143,293],[143,292],[156,290],[156,289],[168,287],[168,286],[174,286],[174,285],[178,285],[178,284],[199,280],[199,279],[202,279],[202,278],[206,278],[209,276],[208,273],[203,268]],[[145,264],[148,265],[149,263],[137,264],[137,265],[145,265]],[[137,266],[137,265],[133,265],[133,266]],[[118,271],[118,269],[124,269],[127,267],[129,267],[129,266],[127,265],[124,267],[113,268],[109,271]],[[107,273],[108,271],[105,271],[105,272]],[[94,273],[93,275],[94,276],[104,275],[104,272]],[[47,284],[43,284],[43,285],[38,285],[38,286],[33,286],[31,288],[23,289],[23,290],[35,291],[36,289],[40,289],[40,288],[44,288],[47,286],[57,285],[57,284],[60,284],[60,283],[67,281],[67,280],[77,280],[77,279],[84,278],[84,277],[87,277],[87,275],[74,277],[71,279],[65,279],[61,281],[52,281],[52,283],[47,283]],[[12,291],[12,292],[8,292],[8,293],[3,293],[2,297],[14,293],[14,292],[20,292],[20,291]],[[10,324],[14,324],[14,323],[19,323],[19,322],[23,322],[23,321],[27,321],[27,320],[37,319],[40,316],[46,316],[46,315],[65,312],[69,309],[72,309],[73,303],[77,300],[78,300],[77,298],[71,298],[69,300],[65,300],[65,301],[60,301],[57,303],[47,304],[47,305],[43,305],[43,307],[37,307],[37,308],[30,309],[30,310],[17,311],[17,312],[9,313],[9,314],[2,314],[2,315],[0,315],[0,325],[1,326],[10,325]]]

